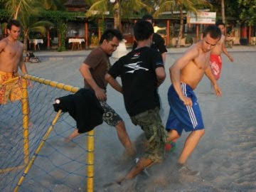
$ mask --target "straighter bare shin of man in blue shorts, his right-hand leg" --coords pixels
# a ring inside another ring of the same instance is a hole
[[[181,156],[178,159],[178,164],[185,164],[186,163],[186,160],[188,159],[188,156],[190,156],[193,149],[196,148],[196,145],[198,144],[201,137],[203,137],[204,133],[205,133],[205,130],[201,129],[201,130],[191,132],[191,134],[188,135],[188,138],[186,139],[186,142],[183,146]]]

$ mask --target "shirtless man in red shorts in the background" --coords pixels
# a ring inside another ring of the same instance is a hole
[[[222,67],[222,58],[220,54],[223,52],[225,55],[228,56],[231,62],[233,62],[234,59],[232,55],[228,53],[228,50],[225,48],[225,36],[224,36],[225,24],[217,23],[216,26],[220,28],[222,35],[221,35],[220,41],[217,43],[217,45],[213,48],[213,50],[210,53],[210,68],[213,72],[215,80],[218,80],[220,78],[220,71]],[[211,87],[213,87],[213,85]]]

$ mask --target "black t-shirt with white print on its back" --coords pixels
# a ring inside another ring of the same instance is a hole
[[[113,78],[120,75],[124,105],[129,116],[160,107],[156,68],[164,68],[161,54],[153,48],[132,50],[117,60],[109,70]]]

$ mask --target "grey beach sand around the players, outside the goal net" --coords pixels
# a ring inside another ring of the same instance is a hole
[[[169,49],[166,57],[167,76],[159,88],[164,125],[169,114],[169,67],[184,50]],[[142,173],[124,186],[106,186],[118,176],[127,174],[135,161],[120,161],[124,149],[116,131],[103,123],[95,128],[95,191],[256,191],[256,48],[234,47],[228,50],[235,62],[230,63],[223,55],[223,70],[219,80],[223,97],[217,98],[210,93],[207,78],[203,78],[195,90],[206,134],[188,159],[188,166],[200,171],[200,175],[186,176],[175,170],[176,161],[189,134],[183,132],[181,139],[176,142],[175,151],[167,152],[162,164],[148,169],[151,176]],[[83,87],[78,69],[89,53],[87,50],[36,52],[41,63],[27,63],[28,72],[41,78]],[[111,63],[115,60],[110,59]],[[107,102],[124,119],[129,136],[140,146],[137,138],[143,132],[130,121],[122,95],[110,86],[107,88]],[[61,158],[59,161],[62,161]],[[61,185],[50,190],[65,191]],[[78,186],[78,191],[86,191],[85,185]]]

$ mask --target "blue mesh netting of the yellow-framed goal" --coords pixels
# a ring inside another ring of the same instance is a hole
[[[71,94],[39,82],[32,84],[33,87],[28,88],[29,159],[55,117],[55,98]],[[72,117],[68,113],[61,114],[19,191],[84,191],[87,178],[86,134],[81,134],[73,142],[63,142],[74,129]],[[25,166],[21,102],[8,102],[0,105],[0,191],[13,191]]]

